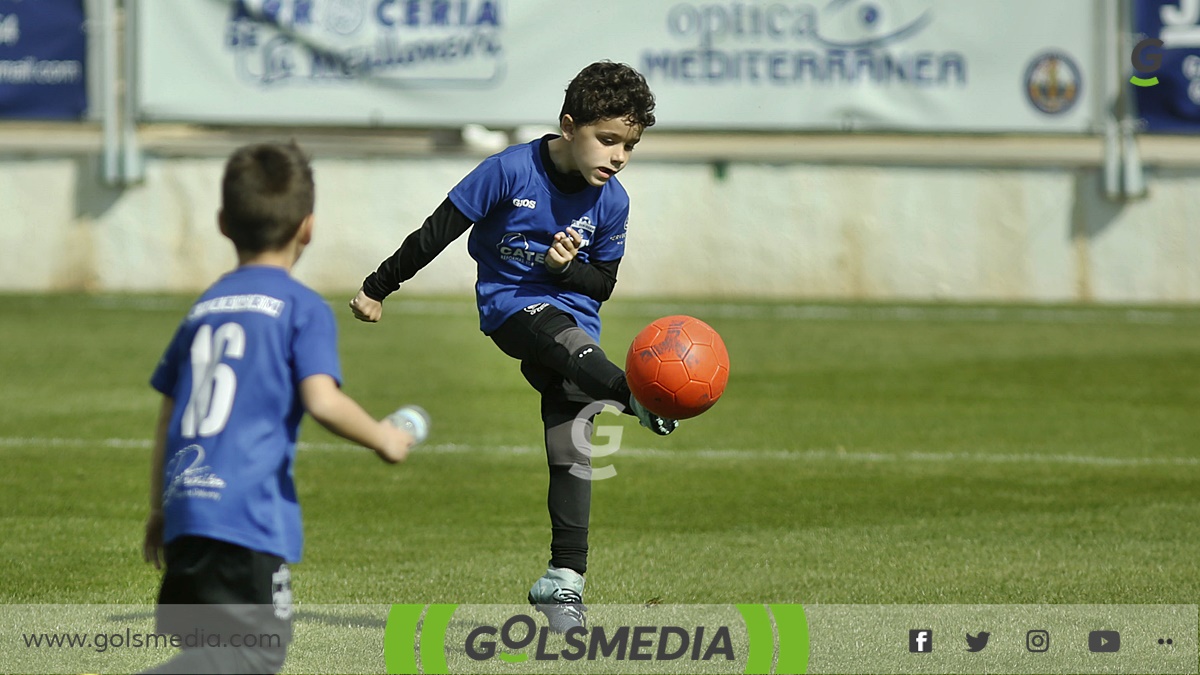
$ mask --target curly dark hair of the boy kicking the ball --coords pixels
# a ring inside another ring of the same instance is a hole
[[[577,125],[624,119],[642,129],[654,126],[654,94],[642,73],[626,64],[596,61],[566,85],[563,112]]]

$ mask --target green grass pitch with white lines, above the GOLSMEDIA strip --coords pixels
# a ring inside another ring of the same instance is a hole
[[[346,390],[434,434],[388,466],[306,420],[298,601],[522,602],[535,393],[469,298],[330,299]],[[0,297],[0,604],[152,602],[146,380],[190,300]],[[589,603],[1200,599],[1200,309],[614,300],[610,357],[666,313],[724,335],[728,389],[667,438],[601,416]]]

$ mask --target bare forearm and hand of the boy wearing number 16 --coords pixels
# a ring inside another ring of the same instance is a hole
[[[415,442],[408,431],[371,417],[329,375],[312,375],[300,381],[300,399],[308,414],[322,426],[347,441],[371,448],[386,462],[404,461]]]

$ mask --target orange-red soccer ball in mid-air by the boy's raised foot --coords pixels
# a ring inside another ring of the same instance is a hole
[[[634,338],[625,380],[650,412],[688,419],[713,407],[730,380],[725,341],[703,321],[665,316]]]

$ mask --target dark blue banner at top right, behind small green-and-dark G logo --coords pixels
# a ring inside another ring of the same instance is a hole
[[[1130,86],[1146,131],[1200,133],[1200,0],[1135,0]]]

